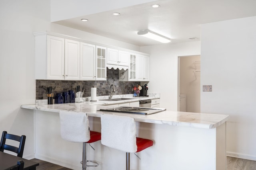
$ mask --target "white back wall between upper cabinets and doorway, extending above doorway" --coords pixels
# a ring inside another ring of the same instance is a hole
[[[148,93],[160,93],[160,107],[178,109],[178,56],[200,55],[200,41],[141,47],[150,54]]]

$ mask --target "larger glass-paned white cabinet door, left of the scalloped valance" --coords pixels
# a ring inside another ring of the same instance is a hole
[[[106,47],[96,46],[96,80],[106,80]]]

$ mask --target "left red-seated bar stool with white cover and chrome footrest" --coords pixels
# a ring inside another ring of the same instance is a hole
[[[62,139],[67,141],[83,143],[83,159],[81,161],[83,170],[89,166],[96,167],[99,165],[95,161],[87,160],[87,143],[90,145],[90,143],[99,141],[101,133],[89,130],[86,113],[60,111],[60,134]],[[87,162],[93,162],[95,165],[87,165]]]

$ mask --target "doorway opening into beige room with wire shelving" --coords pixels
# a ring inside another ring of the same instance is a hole
[[[200,113],[201,56],[178,57],[178,111]]]

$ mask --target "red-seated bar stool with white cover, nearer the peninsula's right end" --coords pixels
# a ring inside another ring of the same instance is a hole
[[[153,146],[153,141],[136,137],[136,124],[132,117],[104,114],[101,119],[101,143],[126,152],[126,170],[130,170],[130,153]]]

